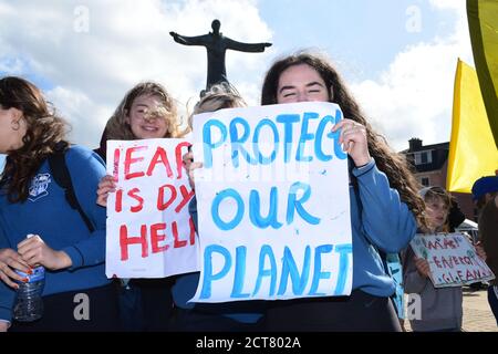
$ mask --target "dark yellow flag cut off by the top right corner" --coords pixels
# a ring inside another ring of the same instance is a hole
[[[498,148],[498,0],[467,0],[474,61]]]

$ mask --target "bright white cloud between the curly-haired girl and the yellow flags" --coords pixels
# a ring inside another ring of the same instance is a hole
[[[430,0],[454,11],[454,31],[406,48],[376,81],[352,84],[352,91],[376,127],[396,149],[419,137],[424,144],[448,142],[457,59],[473,63],[465,1]]]

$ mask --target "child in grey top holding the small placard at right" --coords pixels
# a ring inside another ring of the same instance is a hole
[[[445,231],[450,195],[440,187],[427,187],[421,190],[425,200],[428,228],[419,231],[434,235]],[[485,257],[481,248],[477,248],[479,257]],[[421,319],[409,321],[415,332],[460,332],[463,320],[461,287],[435,288],[430,281],[430,267],[426,259],[417,258],[408,247],[404,256],[404,282],[407,294],[421,296]]]

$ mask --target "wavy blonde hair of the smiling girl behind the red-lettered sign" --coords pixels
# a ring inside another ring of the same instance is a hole
[[[164,117],[168,123],[168,129],[164,137],[180,137],[176,103],[166,88],[155,82],[143,82],[129,90],[121,101],[114,114],[105,126],[107,139],[133,140],[137,137],[133,134],[126,117],[129,114],[133,102],[141,96],[155,96],[160,101],[160,106],[147,113],[148,116]]]

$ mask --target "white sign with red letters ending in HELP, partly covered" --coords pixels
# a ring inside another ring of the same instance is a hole
[[[107,199],[106,274],[163,278],[198,270],[198,242],[188,202],[194,191],[183,139],[107,142],[107,174],[117,190]]]

